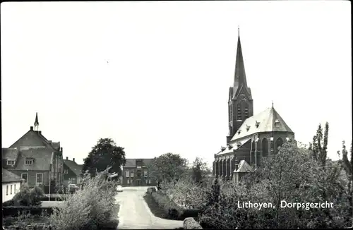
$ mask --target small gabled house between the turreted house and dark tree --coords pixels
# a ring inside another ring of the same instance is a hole
[[[71,181],[71,183],[75,183],[76,185],[80,184],[82,167],[82,164],[75,162],[75,158],[71,161],[66,157],[66,159],[64,159],[64,183],[67,184],[68,181]]]

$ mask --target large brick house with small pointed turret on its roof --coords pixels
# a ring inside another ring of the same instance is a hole
[[[37,114],[35,126],[38,126]],[[37,128],[38,129],[38,128]],[[55,184],[63,183],[63,148],[60,142],[42,135],[42,131],[35,131],[33,126],[13,145],[2,149],[2,164],[5,169],[24,179],[30,187],[44,186],[44,192],[49,192],[49,183],[53,190]]]

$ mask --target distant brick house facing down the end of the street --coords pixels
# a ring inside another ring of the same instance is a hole
[[[122,171],[122,186],[157,186],[157,181],[150,178],[147,166],[150,159],[126,159]]]

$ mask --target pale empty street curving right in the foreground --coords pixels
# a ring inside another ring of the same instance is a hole
[[[143,199],[147,187],[124,187],[116,195],[119,203],[118,229],[176,229],[183,226],[182,221],[155,217]]]

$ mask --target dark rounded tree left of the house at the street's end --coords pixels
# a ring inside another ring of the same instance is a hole
[[[111,138],[100,138],[97,145],[92,147],[88,157],[83,162],[83,174],[85,171],[104,171],[111,167],[109,172],[121,175],[121,166],[126,163],[124,147],[116,146]]]

